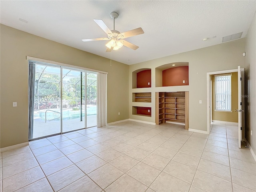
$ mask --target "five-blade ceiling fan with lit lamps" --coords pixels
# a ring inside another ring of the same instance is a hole
[[[118,50],[123,45],[133,50],[138,49],[139,48],[138,46],[124,40],[124,38],[144,34],[144,31],[142,30],[142,28],[139,27],[130,31],[126,31],[124,33],[120,33],[119,31],[115,30],[115,20],[116,18],[118,18],[118,14],[116,12],[112,12],[110,14],[110,17],[114,20],[114,30],[110,30],[108,26],[106,26],[103,20],[94,19],[94,21],[98,24],[98,26],[100,26],[100,28],[108,35],[107,38],[82,39],[82,41],[86,42],[86,41],[110,40],[106,44],[106,47],[107,47],[106,52],[110,52],[111,50]]]

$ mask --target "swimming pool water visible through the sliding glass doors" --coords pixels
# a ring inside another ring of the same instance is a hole
[[[96,115],[97,114],[97,106],[96,105],[88,105],[86,106],[87,116],[88,115]],[[44,109],[38,110],[34,112],[34,118],[41,118],[45,120],[60,120],[60,109]],[[85,116],[85,109],[82,107],[82,116]],[[64,108],[62,109],[62,119],[75,119],[80,118],[80,110],[73,110],[72,108]]]

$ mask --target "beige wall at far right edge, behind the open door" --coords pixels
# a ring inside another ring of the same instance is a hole
[[[256,13],[248,30],[245,41],[245,99],[248,101],[246,109],[246,139],[256,154]],[[252,130],[252,135],[250,134]]]

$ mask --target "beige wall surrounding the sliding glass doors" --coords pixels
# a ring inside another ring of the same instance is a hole
[[[0,147],[28,141],[28,60],[26,56],[108,72],[108,123],[129,118],[129,66],[8,26],[0,26]],[[86,44],[84,44],[86,46]],[[18,102],[12,107],[12,102]],[[120,115],[118,115],[120,112]]]

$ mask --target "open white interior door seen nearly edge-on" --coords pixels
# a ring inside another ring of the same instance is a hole
[[[244,68],[238,66],[238,147],[244,138]]]

